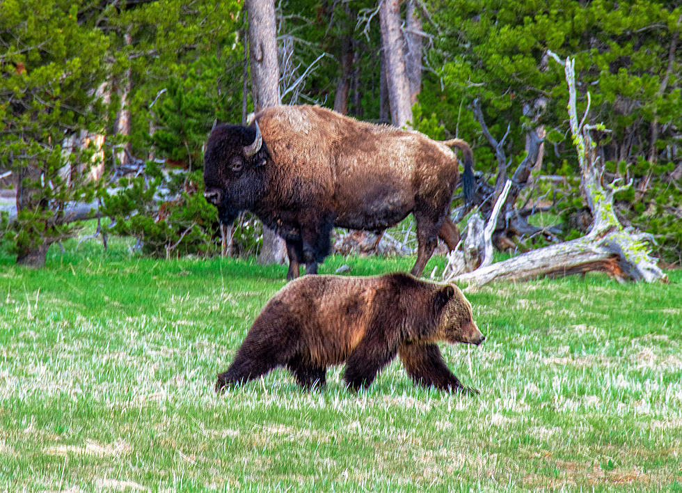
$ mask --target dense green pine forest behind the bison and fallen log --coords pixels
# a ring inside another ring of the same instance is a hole
[[[681,263],[676,1],[402,2],[411,107],[399,121],[381,4],[276,3],[281,102],[465,139],[489,188],[501,157],[511,174],[544,139],[519,210],[550,212],[554,224],[496,242],[528,249],[578,237],[592,221],[564,70],[548,50],[574,57],[578,114],[611,130],[598,137],[605,179],[632,182],[615,196],[619,218]],[[0,12],[0,187],[10,190],[1,247],[40,265],[79,228],[71,209],[97,204],[89,217],[111,218],[97,230],[104,238],[132,235],[154,256],[219,253],[202,150],[214,123],[246,123],[253,111],[244,3],[4,0]],[[261,238],[257,221],[241,217],[232,253],[257,253]]]

